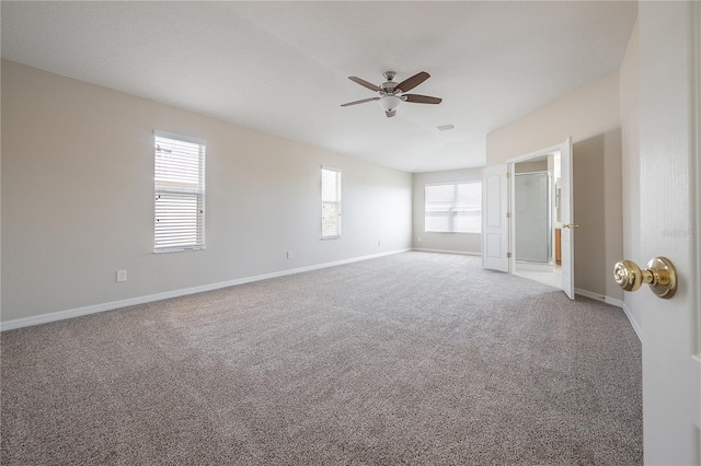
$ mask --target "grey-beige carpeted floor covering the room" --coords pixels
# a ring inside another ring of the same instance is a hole
[[[405,253],[1,335],[1,463],[642,463],[623,312]]]

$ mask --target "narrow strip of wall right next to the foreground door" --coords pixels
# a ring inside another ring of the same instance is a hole
[[[636,264],[647,264],[650,257],[640,255],[640,34],[637,21],[628,42],[621,63],[621,132],[623,148],[623,256]],[[624,304],[629,315],[642,333],[642,306],[636,301],[644,300],[643,293],[624,293]],[[641,335],[642,337],[642,335]]]

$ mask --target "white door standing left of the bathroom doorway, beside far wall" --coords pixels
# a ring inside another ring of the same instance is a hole
[[[508,177],[504,165],[482,170],[482,267],[508,272]]]

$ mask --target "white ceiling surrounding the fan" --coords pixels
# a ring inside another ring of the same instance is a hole
[[[406,172],[620,66],[635,2],[8,2],[2,58]],[[427,71],[387,118],[349,81]],[[436,126],[456,129],[439,132]],[[192,135],[197,136],[197,135]]]

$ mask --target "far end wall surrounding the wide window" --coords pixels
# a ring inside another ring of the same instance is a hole
[[[446,251],[481,254],[482,235],[472,233],[426,233],[425,194],[426,184],[446,182],[481,180],[482,170],[455,170],[414,174],[414,247],[417,249]],[[420,241],[421,238],[421,241]]]

